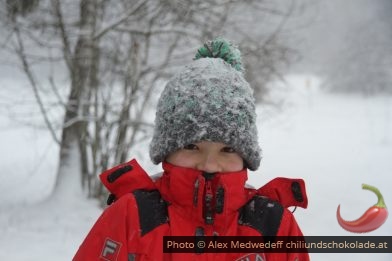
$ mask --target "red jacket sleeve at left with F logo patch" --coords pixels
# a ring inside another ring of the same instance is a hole
[[[134,203],[129,194],[105,209],[72,260],[128,260],[129,220]]]

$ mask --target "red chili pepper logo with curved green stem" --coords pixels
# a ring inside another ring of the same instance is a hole
[[[373,186],[362,184],[362,189],[367,189],[377,195],[378,201],[370,207],[360,218],[353,221],[346,221],[340,216],[340,205],[338,206],[336,217],[339,225],[347,231],[354,233],[365,233],[379,228],[388,217],[388,210],[384,203],[380,191]]]

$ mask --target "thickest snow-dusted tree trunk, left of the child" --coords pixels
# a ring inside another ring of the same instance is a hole
[[[65,108],[60,144],[59,170],[54,194],[83,195],[87,175],[86,134],[90,104],[89,78],[93,67],[96,6],[94,0],[80,2],[80,31],[72,57],[71,90]],[[72,183],[71,183],[72,182]],[[72,186],[72,188],[70,187]]]

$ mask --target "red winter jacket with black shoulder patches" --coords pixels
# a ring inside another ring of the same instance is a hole
[[[164,236],[302,236],[287,207],[306,208],[307,197],[297,179],[276,178],[255,190],[245,187],[246,170],[163,169],[154,181],[132,160],[101,174],[115,202],[73,260],[309,260],[307,253],[164,253]]]

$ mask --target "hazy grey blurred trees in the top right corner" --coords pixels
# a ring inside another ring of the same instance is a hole
[[[327,57],[318,65],[325,87],[346,94],[391,94],[392,2],[347,1],[344,5],[330,7],[339,23],[329,28],[332,40],[323,46]]]

